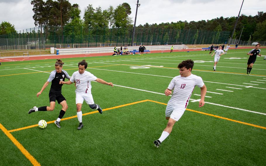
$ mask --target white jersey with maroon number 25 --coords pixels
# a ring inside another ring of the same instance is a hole
[[[89,93],[91,94],[91,81],[96,80],[97,77],[95,77],[90,72],[84,71],[84,73],[80,74],[79,71],[76,71],[73,73],[72,77],[70,78],[71,82],[76,81],[76,87],[75,90],[76,93]]]

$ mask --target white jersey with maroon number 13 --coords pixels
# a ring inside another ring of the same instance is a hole
[[[199,88],[204,85],[202,78],[199,76],[191,74],[188,77],[181,77],[180,75],[174,77],[168,85],[168,89],[174,90],[167,104],[186,108],[196,85]]]

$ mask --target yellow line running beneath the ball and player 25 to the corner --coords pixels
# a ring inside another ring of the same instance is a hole
[[[127,103],[127,104],[123,104],[123,105],[120,105],[120,106],[115,106],[115,107],[111,107],[111,108],[105,108],[105,109],[103,109],[103,111],[113,110],[115,108],[130,106],[130,105],[133,105],[133,104],[143,103],[143,102],[146,102],[146,101],[149,101],[149,100],[136,101],[136,102],[133,102],[133,103]],[[89,115],[89,114],[94,114],[94,113],[99,113],[99,111],[92,111],[92,112],[89,112],[89,113],[84,113],[82,115]],[[77,117],[77,115],[71,116],[71,117],[62,118],[61,121],[62,120],[73,119],[75,117]],[[47,122],[47,124],[51,124],[51,123],[54,123],[54,120]],[[34,124],[34,125],[26,126],[26,127],[21,127],[21,128],[18,128],[18,129],[8,130],[8,132],[15,132],[15,131],[20,131],[20,130],[25,130],[25,129],[29,129],[29,128],[37,127],[37,126],[38,126],[38,124]]]

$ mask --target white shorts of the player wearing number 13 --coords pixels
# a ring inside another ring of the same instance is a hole
[[[186,108],[184,107],[172,106],[170,104],[167,104],[165,109],[165,117],[170,117],[173,120],[178,121],[182,117],[185,110]]]

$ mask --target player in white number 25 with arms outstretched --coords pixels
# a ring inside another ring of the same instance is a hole
[[[100,78],[95,77],[93,74],[91,74],[88,71],[85,71],[88,63],[85,60],[82,60],[80,63],[78,63],[79,70],[74,72],[72,77],[68,82],[60,81],[60,84],[72,84],[73,82],[76,82],[77,89],[76,92],[76,106],[77,106],[77,119],[80,122],[79,127],[77,128],[80,130],[83,127],[82,124],[82,111],[81,107],[83,104],[83,101],[85,100],[87,104],[89,104],[89,107],[91,109],[97,109],[99,113],[103,113],[103,110],[98,104],[95,104],[93,101],[93,97],[91,95],[91,81],[96,81],[101,84],[110,85],[113,87],[112,82],[106,82]]]

